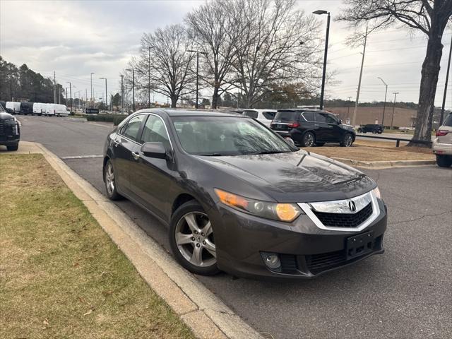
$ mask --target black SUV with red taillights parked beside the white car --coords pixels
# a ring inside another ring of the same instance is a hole
[[[312,109],[280,109],[270,127],[302,147],[323,146],[325,143],[350,147],[356,136],[355,129],[342,124],[334,114]]]

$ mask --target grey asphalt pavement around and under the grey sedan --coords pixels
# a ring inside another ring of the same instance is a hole
[[[18,117],[37,141],[102,193],[103,144],[113,128],[71,118]],[[388,205],[386,253],[315,280],[266,282],[225,273],[198,276],[256,330],[290,338],[452,338],[452,168],[364,170]],[[119,201],[169,249],[167,230]]]

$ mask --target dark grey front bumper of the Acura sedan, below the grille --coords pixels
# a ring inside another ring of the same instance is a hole
[[[217,204],[209,211],[213,222],[218,268],[246,278],[314,278],[350,263],[383,253],[386,206],[378,200],[379,215],[360,232],[321,230],[307,215],[294,222],[266,220]],[[371,232],[371,251],[347,258],[347,239]],[[281,270],[267,268],[261,253],[280,256]]]

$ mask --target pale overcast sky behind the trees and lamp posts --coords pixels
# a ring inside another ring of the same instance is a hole
[[[199,1],[8,1],[0,0],[0,54],[17,66],[53,76],[65,85],[71,81],[73,93],[90,93],[90,73],[96,97],[102,97],[107,77],[108,92],[119,91],[119,72],[138,54],[141,35],[157,27],[182,22]],[[331,12],[332,18],[343,6],[340,0],[297,1],[297,6],[311,13],[316,9]],[[326,16],[320,16],[326,25]],[[343,44],[350,29],[331,22],[328,71],[335,71],[335,85],[326,95],[355,100],[362,47],[352,49]],[[446,78],[451,30],[444,35],[444,52],[439,75],[436,106],[441,106]],[[427,40],[420,33],[413,37],[400,27],[389,28],[369,36],[360,102],[383,100],[388,83],[388,101],[399,92],[397,101],[417,102],[420,71]],[[449,77],[450,78],[450,77]],[[449,80],[446,107],[452,107],[452,79]],[[204,93],[207,95],[207,93]],[[163,97],[155,97],[163,101]],[[165,100],[166,101],[166,100]]]

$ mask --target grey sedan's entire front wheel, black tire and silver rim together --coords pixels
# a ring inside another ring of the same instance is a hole
[[[197,201],[177,208],[171,218],[169,245],[176,260],[191,273],[215,275],[217,255],[213,227]]]

